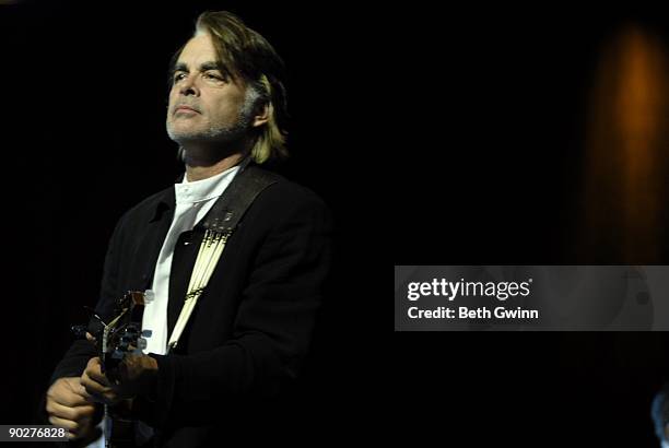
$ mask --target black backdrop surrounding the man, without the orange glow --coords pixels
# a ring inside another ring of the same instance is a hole
[[[384,325],[390,260],[667,264],[666,235],[655,259],[576,243],[601,45],[626,23],[669,35],[661,11],[583,7],[0,7],[1,423],[33,420],[69,326],[95,300],[116,220],[181,169],[164,131],[167,62],[206,9],[238,13],[285,59],[293,157],[278,169],[337,220],[301,396],[315,440],[655,446],[664,334],[395,333],[389,343]]]

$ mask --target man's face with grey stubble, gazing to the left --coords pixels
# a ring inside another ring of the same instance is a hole
[[[251,126],[246,87],[215,60],[209,34],[191,38],[179,56],[167,108],[167,133],[179,144],[235,141]]]

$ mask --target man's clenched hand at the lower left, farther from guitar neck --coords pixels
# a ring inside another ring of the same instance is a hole
[[[87,400],[80,378],[59,378],[47,391],[49,422],[68,429],[70,439],[94,440],[99,435],[93,422],[95,406]]]

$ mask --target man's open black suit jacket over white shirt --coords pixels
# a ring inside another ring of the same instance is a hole
[[[171,187],[118,222],[96,307],[103,318],[126,291],[151,286],[174,208]],[[177,241],[168,332],[203,234],[197,225]],[[330,263],[330,234],[329,211],[312,191],[281,178],[258,196],[230,237],[176,352],[154,355],[157,399],[136,401],[141,418],[157,429],[161,446],[209,446],[221,431],[230,435],[248,429],[249,422],[282,420],[287,401],[280,392],[296,378],[309,346]],[[51,380],[80,376],[94,355],[87,341],[77,341]]]

